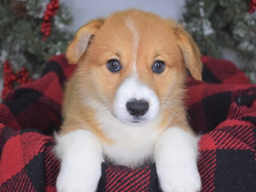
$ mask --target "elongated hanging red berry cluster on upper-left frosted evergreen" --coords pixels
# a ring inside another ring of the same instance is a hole
[[[47,37],[50,35],[52,29],[52,22],[54,15],[59,9],[59,0],[50,0],[47,4],[47,8],[44,12],[44,21],[41,24],[41,33],[44,34],[43,41],[47,41]]]

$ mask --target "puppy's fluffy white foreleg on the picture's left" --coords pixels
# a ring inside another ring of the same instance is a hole
[[[102,145],[88,130],[56,136],[55,151],[61,160],[58,192],[95,192],[101,177]]]

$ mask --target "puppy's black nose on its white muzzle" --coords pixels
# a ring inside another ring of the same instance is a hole
[[[145,113],[148,112],[148,102],[144,100],[137,100],[137,99],[132,99],[131,101],[126,103],[126,108],[127,111],[132,115],[132,116],[143,116]]]

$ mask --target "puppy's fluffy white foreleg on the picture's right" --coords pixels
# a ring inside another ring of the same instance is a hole
[[[197,138],[179,127],[168,128],[154,151],[157,175],[164,192],[197,192],[201,179],[197,168]]]

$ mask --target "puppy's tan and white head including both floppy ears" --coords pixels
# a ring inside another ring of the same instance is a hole
[[[81,99],[95,98],[132,125],[164,116],[163,109],[180,102],[186,69],[201,80],[200,52],[183,27],[138,10],[82,26],[67,59],[79,64]]]

